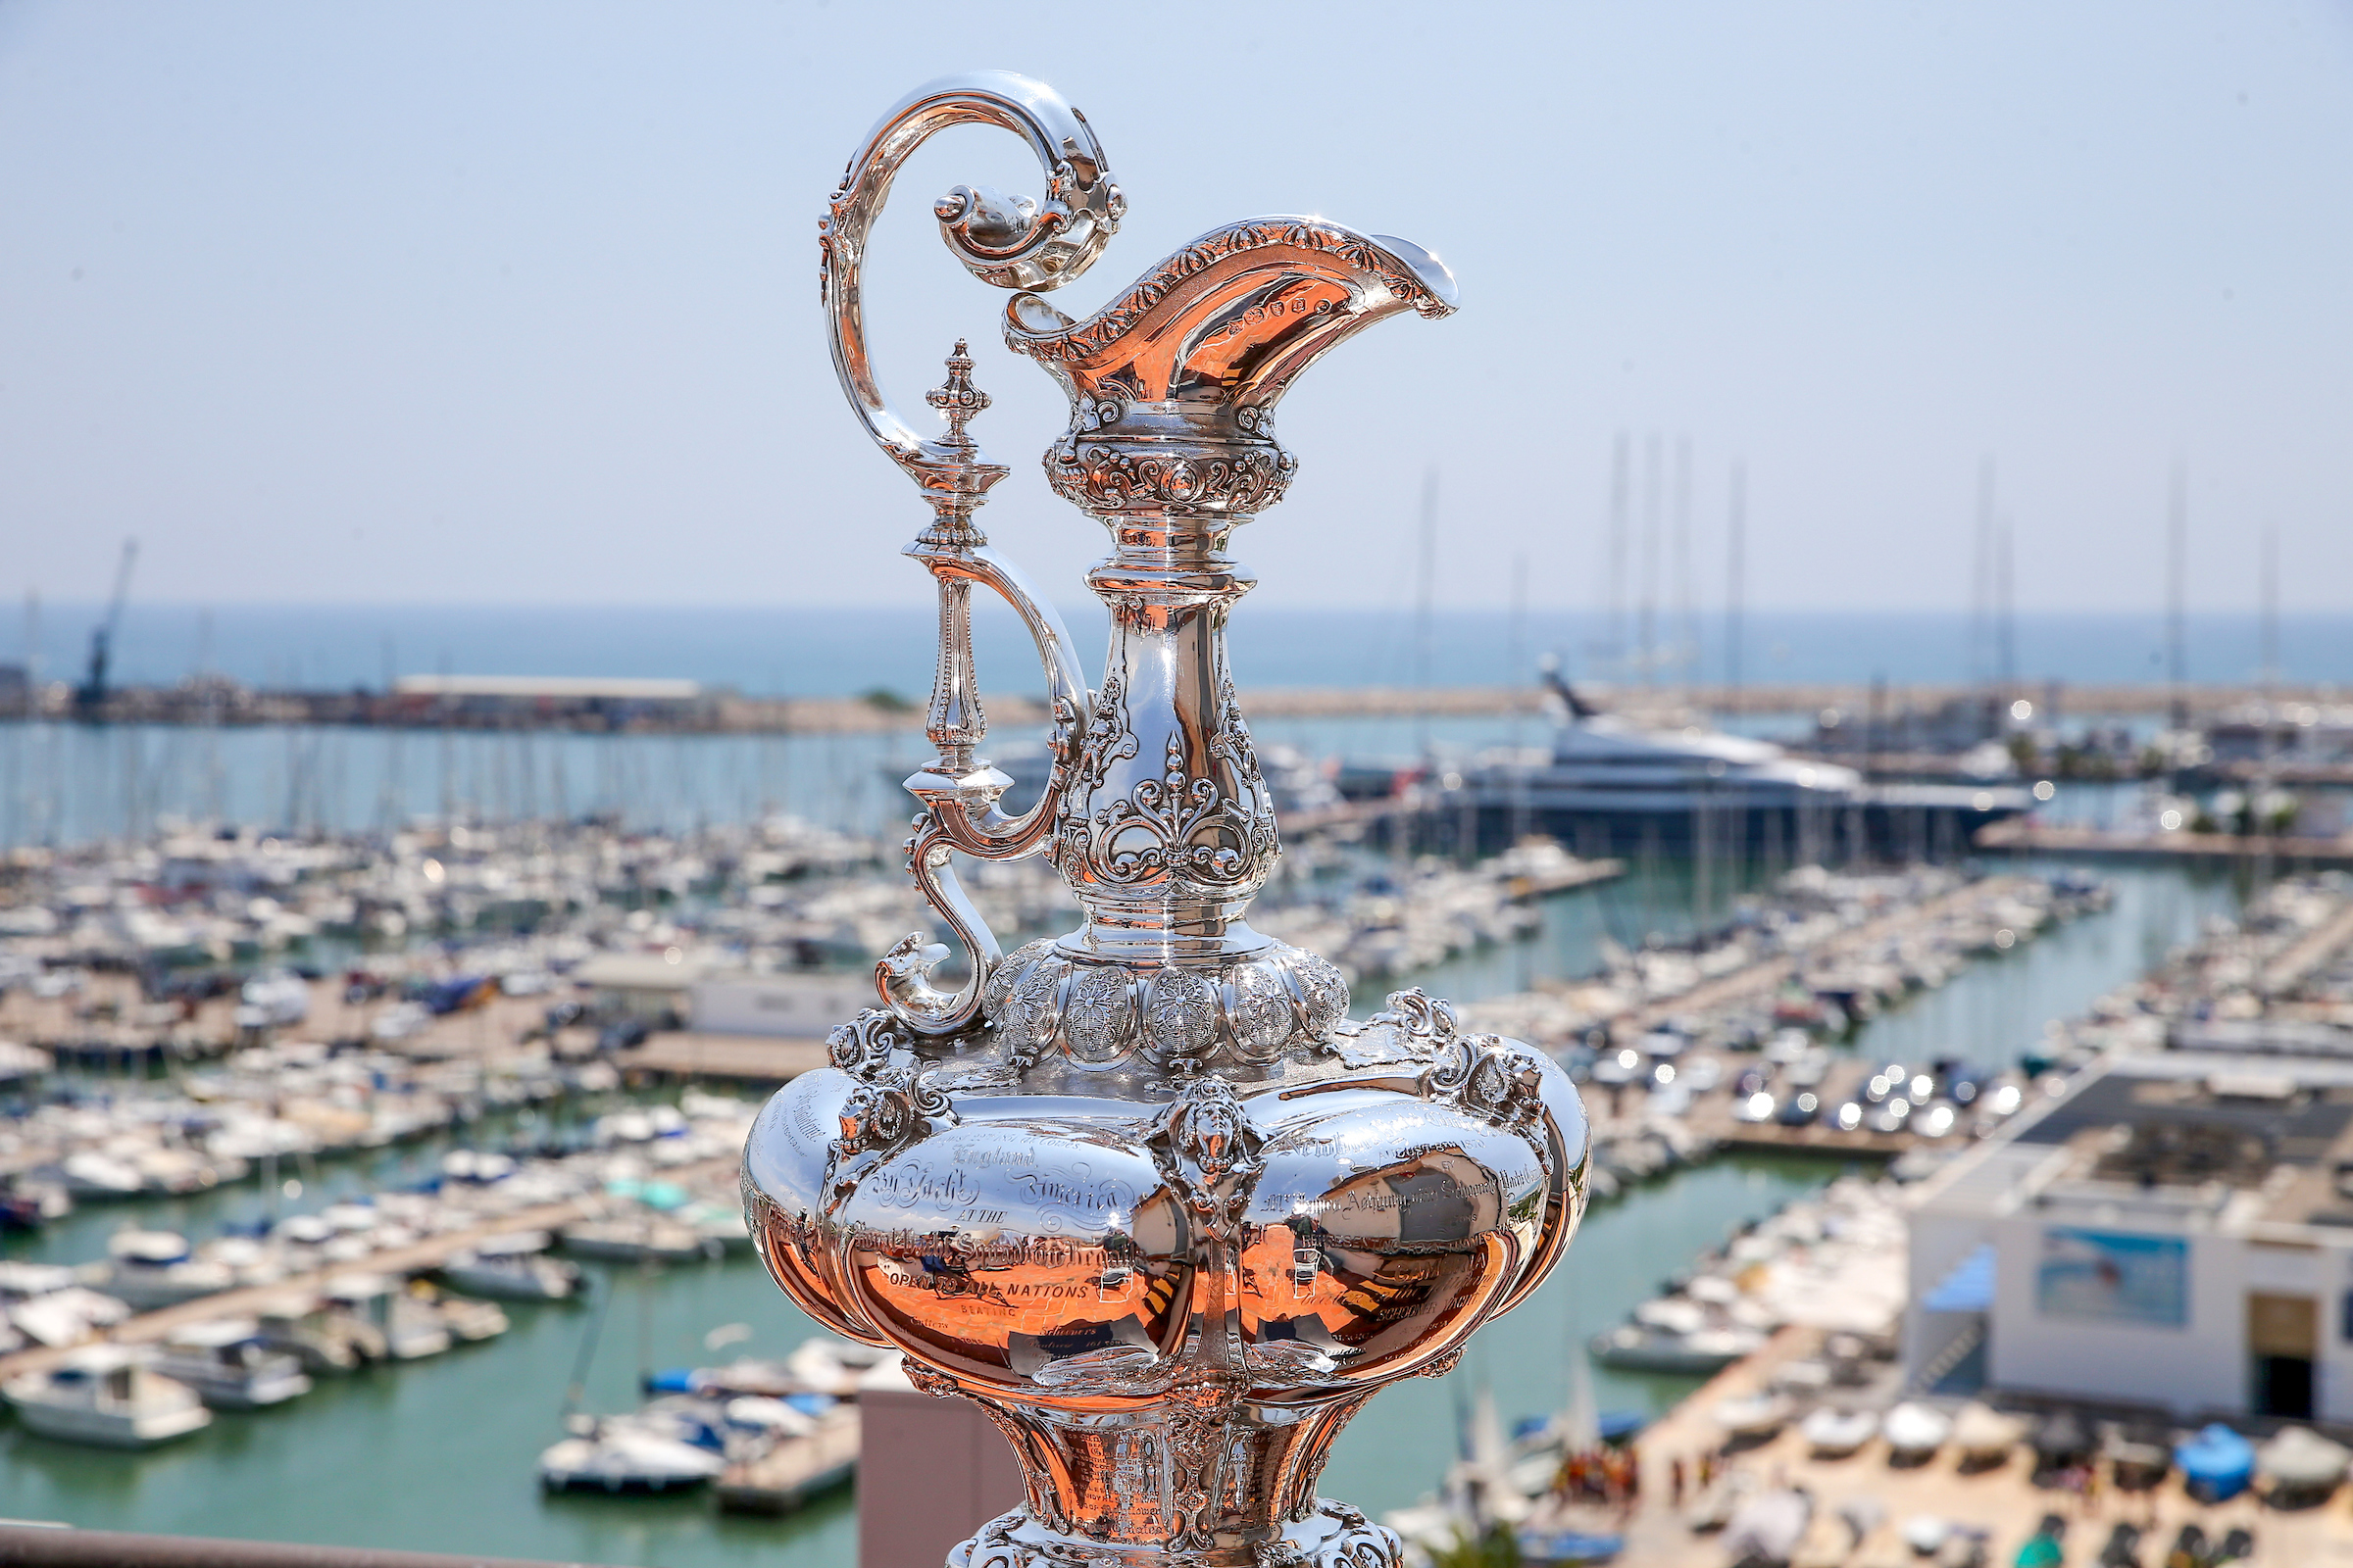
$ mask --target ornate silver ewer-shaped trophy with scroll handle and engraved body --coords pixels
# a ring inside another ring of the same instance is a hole
[[[965,346],[927,395],[932,437],[866,355],[859,270],[892,176],[972,122],[1045,165],[1042,200],[958,186],[934,212],[974,277],[1016,289],[1005,343],[1071,395],[1045,473],[1111,531],[1087,574],[1111,607],[1094,686],[974,522],[1007,470],[967,433],[988,397]],[[795,1302],[904,1349],[918,1387],[972,1399],[1014,1446],[1026,1497],[951,1568],[1386,1568],[1395,1535],[1315,1495],[1332,1439],[1537,1288],[1584,1213],[1586,1117],[1541,1051],[1419,990],[1355,1023],[1332,964],[1245,922],[1280,851],[1226,668],[1254,578],[1226,543],[1292,480],[1292,378],[1372,322],[1449,315],[1454,277],[1405,240],[1247,219],[1073,322],[1042,292],[1122,212],[1085,115],[976,73],[892,108],[819,223],[842,390],[932,508],[906,555],[939,581],[939,757],[906,780],[906,858],[969,978],[934,985],[946,947],[920,933],[892,947],[882,1006],[760,1112],[744,1199]],[[1028,625],[1052,696],[1052,773],[1019,816],[979,755],[974,585]],[[1047,856],[1080,926],[1000,952],[955,853]]]

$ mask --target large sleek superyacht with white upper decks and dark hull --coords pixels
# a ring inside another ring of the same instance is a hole
[[[1548,750],[1485,752],[1461,773],[1480,839],[1548,832],[1577,853],[1847,853],[1944,858],[1986,823],[2026,811],[2026,790],[1866,785],[1835,762],[1697,724],[1649,729],[1595,708],[1546,670],[1560,701]]]

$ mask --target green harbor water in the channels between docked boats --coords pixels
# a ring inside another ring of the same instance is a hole
[[[1965,1056],[2005,1060],[2031,1051],[2042,1020],[2082,1009],[2186,940],[2240,889],[2228,877],[2125,870],[2104,914],[1969,961],[1944,990],[1866,1023],[1849,1048],[1894,1060]],[[1602,938],[1673,936],[1689,889],[1645,877],[1565,893],[1520,947],[1454,959],[1417,980],[1461,999],[1574,976]],[[1369,990],[1369,987],[1367,987]],[[1374,997],[1360,997],[1367,1011]],[[369,1161],[282,1171],[315,1208],[341,1194],[421,1175],[445,1145]],[[1845,1168],[1821,1157],[1722,1157],[1631,1187],[1586,1220],[1567,1260],[1513,1316],[1494,1324],[1445,1380],[1407,1380],[1374,1399],[1339,1441],[1325,1490],[1372,1509],[1412,1502],[1454,1458],[1457,1410],[1489,1385],[1506,1422],[1546,1415],[1569,1396],[1572,1356],[1614,1326],[1659,1281],[1746,1220],[1817,1190]],[[9,1255],[82,1262],[104,1237],[139,1220],[191,1234],[252,1220],[271,1199],[256,1185],[200,1199],[85,1208],[42,1237],[12,1239]],[[565,1392],[584,1349],[591,1410],[631,1408],[645,1368],[736,1354],[784,1354],[814,1326],[748,1258],[640,1272],[591,1265],[598,1305],[511,1307],[513,1331],[431,1361],[381,1366],[322,1382],[289,1406],[226,1415],[202,1436],[146,1455],[47,1443],[0,1427],[0,1514],[80,1526],[478,1552],[602,1563],[701,1568],[765,1563],[840,1568],[854,1556],[847,1493],[784,1519],[732,1519],[708,1497],[541,1495],[534,1458],[560,1434]],[[751,1326],[725,1352],[704,1335]],[[1600,1408],[1659,1413],[1694,1380],[1593,1368]],[[421,1500],[431,1500],[424,1505]]]

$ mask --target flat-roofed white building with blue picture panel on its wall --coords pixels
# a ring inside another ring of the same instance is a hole
[[[2353,1422],[2353,1034],[2181,1027],[1958,1157],[1904,1354],[1913,1387]]]

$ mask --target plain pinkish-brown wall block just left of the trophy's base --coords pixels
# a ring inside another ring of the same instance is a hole
[[[932,1568],[1021,1502],[1021,1467],[969,1399],[859,1394],[859,1568]]]

